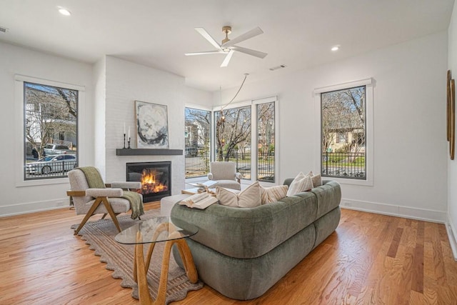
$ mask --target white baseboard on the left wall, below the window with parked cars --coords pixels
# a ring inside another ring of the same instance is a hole
[[[0,217],[14,216],[20,214],[29,214],[39,211],[49,211],[69,207],[69,197],[62,199],[28,202],[26,204],[11,204],[9,206],[0,206]]]

